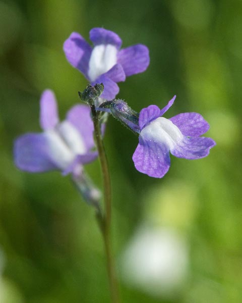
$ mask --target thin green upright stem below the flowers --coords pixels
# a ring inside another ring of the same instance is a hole
[[[118,296],[118,286],[115,274],[114,260],[111,254],[111,242],[110,242],[110,223],[111,223],[111,183],[110,175],[107,164],[107,157],[102,141],[102,134],[100,130],[100,124],[98,119],[98,114],[96,112],[95,106],[91,105],[93,124],[94,124],[94,136],[97,145],[97,150],[99,154],[99,161],[101,165],[102,175],[103,175],[103,187],[104,187],[104,215],[100,213],[97,214],[97,219],[99,227],[102,231],[104,247],[106,252],[107,261],[107,273],[109,280],[109,288],[111,293],[112,303],[119,302]]]

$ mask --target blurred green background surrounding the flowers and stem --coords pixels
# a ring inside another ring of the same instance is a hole
[[[62,118],[79,102],[87,81],[67,62],[63,42],[72,31],[88,40],[92,27],[116,32],[123,47],[143,43],[150,50],[148,70],[119,83],[119,98],[140,111],[162,108],[176,94],[166,117],[201,113],[210,123],[206,135],[217,142],[209,157],[171,157],[163,179],[149,178],[132,162],[138,138],[109,119],[104,141],[123,302],[241,302],[242,2],[6,0],[0,1],[1,303],[109,299],[93,209],[59,172],[18,171],[12,152],[17,136],[40,131],[45,88],[56,93]],[[98,161],[87,170],[101,187]],[[124,251],[144,224],[175,232],[186,245],[181,283],[168,291],[158,283],[158,294],[122,274]]]

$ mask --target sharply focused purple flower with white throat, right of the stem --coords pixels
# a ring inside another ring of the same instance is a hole
[[[200,137],[209,124],[197,113],[184,113],[170,119],[161,117],[173,104],[175,96],[160,110],[151,105],[140,112],[139,144],[133,155],[135,167],[150,177],[162,178],[170,167],[170,155],[200,159],[208,156],[216,143]]]

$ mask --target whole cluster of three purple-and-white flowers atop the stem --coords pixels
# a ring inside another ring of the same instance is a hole
[[[161,178],[170,167],[170,153],[185,159],[200,159],[209,154],[215,142],[201,136],[207,132],[209,124],[200,114],[162,117],[175,96],[162,110],[151,105],[140,114],[123,100],[114,100],[119,91],[117,82],[147,69],[149,51],[145,45],[120,49],[119,36],[103,28],[93,28],[90,40],[93,47],[80,34],[72,33],[64,43],[66,58],[97,88],[95,98],[100,97],[101,102],[93,103],[95,110],[111,113],[139,134],[139,144],[133,155],[138,171]],[[28,133],[15,141],[16,166],[29,172],[61,170],[64,175],[71,173],[74,179],[84,182],[83,165],[97,158],[90,108],[76,105],[68,112],[66,120],[59,122],[54,93],[45,90],[40,99],[40,125],[42,133]]]

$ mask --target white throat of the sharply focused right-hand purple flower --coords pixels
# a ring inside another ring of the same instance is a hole
[[[142,129],[140,135],[145,140],[165,144],[169,149],[173,149],[184,137],[176,125],[163,117],[159,117],[148,124]]]

